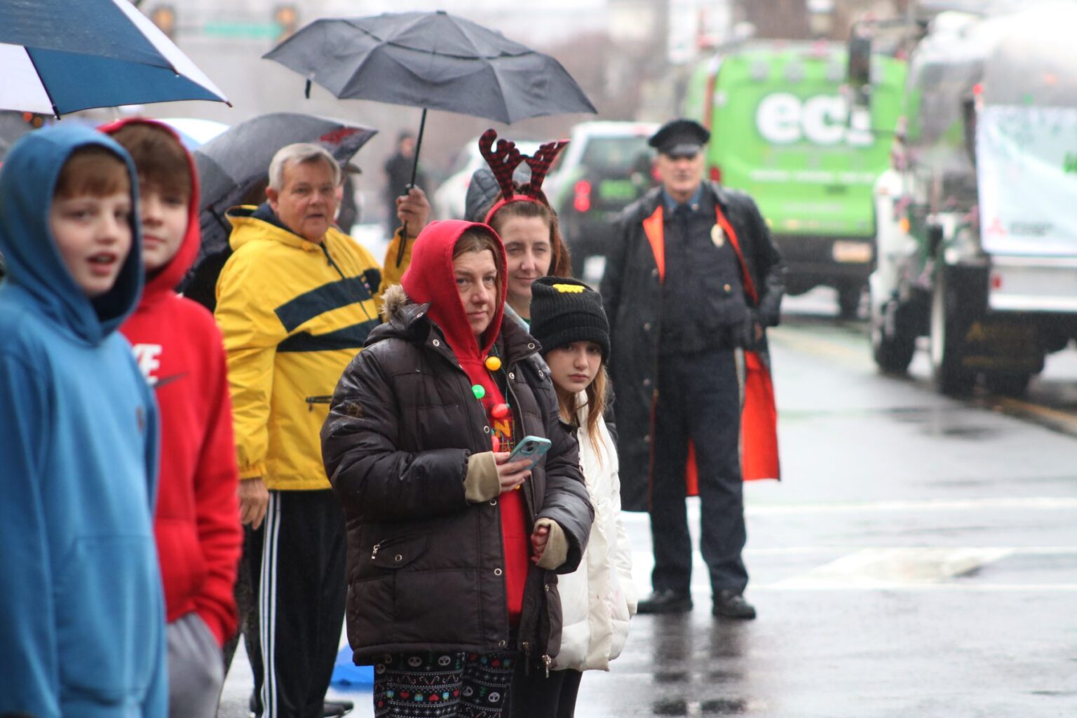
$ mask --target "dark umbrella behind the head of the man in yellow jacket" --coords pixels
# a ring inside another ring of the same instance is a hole
[[[344,167],[378,130],[297,112],[275,112],[239,123],[194,152],[201,185],[199,261],[228,247],[224,213],[269,172],[277,151],[295,142],[320,144]]]

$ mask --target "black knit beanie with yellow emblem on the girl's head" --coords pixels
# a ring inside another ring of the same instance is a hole
[[[602,295],[564,277],[540,277],[531,284],[531,336],[548,352],[573,341],[593,341],[610,358],[610,322]]]

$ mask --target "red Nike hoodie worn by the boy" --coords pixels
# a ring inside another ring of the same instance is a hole
[[[142,118],[102,126],[112,135]],[[177,138],[179,142],[179,138]],[[191,177],[197,178],[190,153]],[[221,333],[205,307],[172,288],[198,254],[198,181],[176,256],[146,278],[138,309],[121,327],[160,407],[160,466],[154,533],[169,622],[192,611],[218,643],[236,632],[233,587],[242,529],[236,489],[232,399]]]

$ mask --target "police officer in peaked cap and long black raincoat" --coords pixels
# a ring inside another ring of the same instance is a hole
[[[691,609],[685,496],[698,493],[713,614],[752,619],[741,558],[739,362],[751,354],[750,365],[763,367],[753,376],[770,385],[765,327],[778,324],[785,267],[755,202],[703,181],[709,139],[690,119],[649,139],[661,186],[621,214],[601,292],[612,322],[621,501],[651,513],[654,592],[640,613]],[[772,396],[770,406],[745,405],[745,425],[769,417],[772,428]],[[777,467],[777,439],[772,451],[765,459]]]

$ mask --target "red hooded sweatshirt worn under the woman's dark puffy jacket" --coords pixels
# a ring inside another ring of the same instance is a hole
[[[495,240],[498,256],[494,262],[500,267],[502,277],[501,296],[493,312],[490,326],[479,339],[476,339],[467,313],[460,301],[456,276],[452,270],[452,251],[457,240],[467,229],[478,229]],[[411,250],[411,264],[401,279],[401,285],[408,298],[419,304],[430,302],[430,319],[442,329],[445,341],[452,348],[460,368],[467,374],[472,384],[484,389],[481,399],[490,426],[494,428],[500,451],[508,451],[513,438],[513,425],[509,418],[498,419],[493,416],[494,407],[505,404],[505,398],[494,381],[486,360],[498,343],[501,333],[501,322],[504,315],[505,292],[507,290],[507,268],[505,264],[505,248],[498,234],[484,224],[465,222],[432,222],[426,225],[416,240]],[[503,370],[503,369],[499,369]],[[493,448],[493,447],[491,447]],[[513,624],[519,622],[523,610],[523,585],[530,567],[531,540],[527,525],[522,491],[509,491],[499,498],[501,508],[501,534],[505,549],[505,595],[508,600],[508,618]]]

